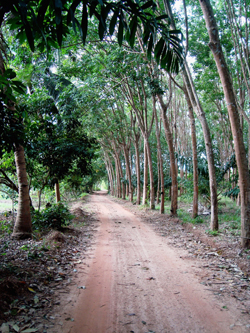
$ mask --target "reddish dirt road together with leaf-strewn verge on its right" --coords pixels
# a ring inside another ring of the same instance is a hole
[[[249,267],[228,244],[105,195],[88,209],[95,241],[55,292],[48,332],[250,332]]]

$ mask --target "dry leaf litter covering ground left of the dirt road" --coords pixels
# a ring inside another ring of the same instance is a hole
[[[50,313],[60,304],[55,292],[66,290],[72,283],[96,227],[94,214],[81,206],[82,202],[72,206],[71,212],[76,216],[74,227],[62,232],[51,230],[38,240],[17,241],[9,234],[0,238],[2,333],[45,333],[53,326]]]

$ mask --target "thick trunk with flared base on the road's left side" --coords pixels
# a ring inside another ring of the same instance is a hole
[[[24,148],[21,145],[17,145],[15,148],[15,163],[18,178],[19,196],[17,217],[12,237],[17,239],[24,239],[31,237],[32,224],[26,162],[24,156]]]

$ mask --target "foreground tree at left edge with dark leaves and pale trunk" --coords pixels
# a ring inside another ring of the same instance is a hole
[[[15,238],[28,238],[31,236],[31,215],[30,215],[30,198],[29,185],[26,172],[26,163],[24,156],[23,128],[20,121],[20,114],[15,107],[15,97],[12,89],[23,93],[23,86],[18,81],[12,81],[15,78],[15,73],[12,70],[5,70],[3,54],[0,50],[0,112],[2,114],[2,141],[5,151],[11,149],[15,153],[15,163],[18,177],[18,210],[15,222],[15,227],[12,236]],[[19,119],[18,119],[19,118]],[[14,135],[11,133],[14,131]],[[0,153],[3,153],[3,149]]]

